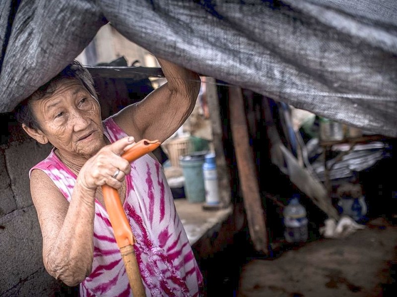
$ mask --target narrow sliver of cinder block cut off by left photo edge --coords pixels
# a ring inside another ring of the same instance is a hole
[[[0,149],[0,217],[15,209],[16,202],[11,191],[11,180],[5,167],[3,150]]]

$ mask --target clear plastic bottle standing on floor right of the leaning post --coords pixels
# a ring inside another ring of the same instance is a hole
[[[289,243],[302,243],[308,239],[308,219],[306,208],[299,202],[299,196],[294,195],[285,206],[284,216],[284,237]]]

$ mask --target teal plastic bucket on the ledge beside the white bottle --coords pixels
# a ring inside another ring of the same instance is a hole
[[[198,203],[205,201],[204,178],[202,164],[206,151],[193,152],[179,160],[185,178],[184,191],[189,202]]]

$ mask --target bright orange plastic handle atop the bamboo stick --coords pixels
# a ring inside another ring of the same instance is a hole
[[[137,142],[132,148],[127,150],[121,156],[132,162],[144,154],[153,151],[160,146],[158,140],[148,141],[142,139]],[[116,189],[108,186],[102,186],[103,199],[105,201],[105,208],[109,214],[110,224],[113,227],[116,243],[119,248],[133,245],[135,238],[132,234],[130,223],[128,222],[126,213],[124,212],[123,205]]]

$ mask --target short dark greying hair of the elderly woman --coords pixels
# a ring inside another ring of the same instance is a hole
[[[94,80],[92,79],[91,74],[77,60],[73,60],[73,62],[67,65],[60,73],[38,88],[32,95],[15,107],[14,111],[16,120],[21,124],[25,124],[28,128],[40,128],[32,112],[30,102],[32,100],[46,98],[53,94],[57,89],[57,83],[63,79],[77,80],[82,86],[84,86],[84,88],[87,89],[92,97],[98,99],[94,88]]]

